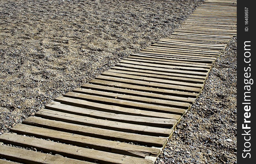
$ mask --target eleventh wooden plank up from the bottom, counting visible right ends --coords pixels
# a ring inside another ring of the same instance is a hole
[[[148,81],[141,81],[141,80],[133,80],[133,79],[127,79],[127,78],[117,78],[117,77],[108,77],[108,76],[97,76],[95,79],[99,80],[107,80],[107,81],[115,81],[115,82],[122,82],[126,84],[133,84],[138,86],[149,86],[153,88],[160,88],[160,89],[169,89],[169,90],[177,90],[182,92],[191,92],[191,93],[200,93],[200,88],[195,87],[188,87],[184,86],[179,87],[177,85],[173,84],[163,84],[158,82],[148,82]]]

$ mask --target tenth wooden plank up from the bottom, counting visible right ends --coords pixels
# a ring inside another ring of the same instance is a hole
[[[127,89],[132,89],[132,90],[143,91],[143,92],[171,95],[171,96],[190,97],[190,98],[197,98],[197,96],[198,96],[197,93],[181,92],[181,91],[176,91],[176,90],[152,88],[152,87],[146,87],[146,86],[137,86],[137,85],[132,85],[132,84],[118,83],[118,82],[114,82],[114,81],[91,80],[90,83],[104,85],[104,86],[124,88],[124,89],[127,88]]]

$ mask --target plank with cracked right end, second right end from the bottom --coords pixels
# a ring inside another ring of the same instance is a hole
[[[27,129],[24,127],[26,127]],[[22,135],[25,134],[29,136],[35,136],[37,138],[59,141],[65,144],[71,144],[73,146],[105,151],[105,152],[115,153],[115,154],[123,154],[127,156],[138,157],[138,158],[145,158],[145,156],[149,156],[149,155],[157,156],[160,153],[160,150],[156,148],[98,139],[98,138],[82,136],[74,133],[67,133],[67,132],[62,132],[57,130],[46,129],[46,128],[31,127],[29,125],[15,127],[13,131],[15,131],[15,133],[22,134]],[[2,139],[3,141],[6,141],[6,138],[9,139],[13,137],[19,138],[21,136],[15,135],[13,133],[4,133],[2,136],[0,136],[0,140]],[[24,140],[26,139],[25,137],[23,138]],[[29,140],[29,138],[27,139]],[[41,145],[38,145],[36,149],[42,150]]]

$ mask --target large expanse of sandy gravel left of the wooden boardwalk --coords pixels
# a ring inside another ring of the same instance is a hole
[[[0,134],[172,33],[202,1],[0,1]]]

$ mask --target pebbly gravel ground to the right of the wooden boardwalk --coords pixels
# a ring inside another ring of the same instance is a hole
[[[236,163],[236,37],[155,163]]]

